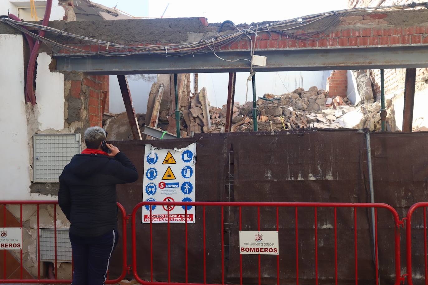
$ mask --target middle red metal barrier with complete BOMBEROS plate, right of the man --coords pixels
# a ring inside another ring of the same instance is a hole
[[[169,285],[170,282],[170,276],[168,276],[168,282],[147,282],[142,280],[137,273],[137,264],[136,264],[136,229],[135,229],[135,215],[137,213],[137,210],[139,208],[141,208],[142,206],[202,206],[203,207],[203,211],[202,211],[202,221],[203,221],[203,284],[207,284],[206,282],[206,258],[207,258],[207,248],[206,248],[206,219],[205,219],[205,207],[206,206],[218,206],[221,209],[221,255],[222,255],[222,260],[221,260],[221,275],[222,275],[222,283],[225,283],[225,279],[224,279],[224,272],[225,272],[225,268],[224,268],[224,207],[233,207],[236,206],[238,207],[239,210],[239,230],[242,230],[242,207],[257,207],[257,223],[258,223],[258,229],[261,229],[261,224],[260,224],[260,207],[275,207],[276,208],[276,229],[279,230],[279,207],[294,207],[295,209],[295,223],[296,223],[296,232],[295,232],[295,238],[296,238],[296,283],[298,285],[299,282],[299,240],[298,240],[298,208],[299,207],[310,207],[310,208],[314,208],[314,218],[315,218],[315,273],[316,273],[316,282],[318,282],[319,278],[319,272],[318,272],[318,208],[333,208],[334,209],[334,250],[335,250],[335,257],[334,257],[334,270],[335,270],[335,283],[338,284],[338,244],[337,244],[337,208],[353,208],[353,212],[354,212],[354,254],[355,254],[355,276],[356,276],[356,280],[355,283],[358,284],[358,227],[357,227],[357,208],[375,208],[375,247],[377,249],[377,208],[382,208],[382,209],[386,209],[388,210],[392,216],[393,216],[393,220],[394,220],[394,226],[395,226],[395,247],[394,247],[394,251],[395,251],[395,283],[398,284],[401,281],[401,276],[400,276],[400,268],[401,268],[401,264],[400,264],[400,236],[399,236],[399,230],[397,228],[397,226],[400,224],[400,220],[398,218],[398,214],[397,212],[389,205],[383,204],[383,203],[288,203],[288,202],[141,202],[139,203],[137,206],[135,206],[133,213],[132,213],[132,221],[133,221],[133,225],[132,225],[132,240],[133,240],[133,245],[132,245],[132,253],[133,253],[133,268],[134,268],[134,278],[140,282],[143,285],[151,285],[151,284],[158,284],[158,285]],[[169,221],[169,218],[168,218]],[[186,220],[187,222],[187,220]],[[169,224],[169,222],[168,222]],[[169,225],[168,225],[169,226]],[[184,227],[187,228],[187,224],[184,225]],[[169,229],[170,230],[170,229]],[[188,230],[188,229],[187,229]],[[187,231],[186,231],[187,232]],[[171,232],[169,231],[168,235],[170,235]],[[186,236],[186,241],[187,241],[187,236]],[[220,241],[218,241],[220,243]],[[191,245],[191,244],[190,244]],[[168,247],[170,247],[170,240],[168,243]],[[188,261],[188,250],[189,250],[189,244],[187,241],[187,246],[186,246],[186,253],[187,253],[187,258],[186,258],[186,264]],[[169,249],[168,249],[169,251]],[[209,254],[208,254],[209,257]],[[376,254],[375,256],[376,259],[376,264],[378,262],[378,255]],[[260,256],[259,256],[259,260],[260,260]],[[243,266],[243,256],[240,255],[239,257],[239,270],[240,270],[240,277],[239,277],[239,282],[240,284],[243,284],[243,271],[242,271],[242,266]],[[261,261],[259,261],[259,273],[258,273],[258,283],[262,284],[262,280],[261,280]],[[168,260],[168,266],[170,266],[170,259]],[[187,264],[188,266],[188,264]],[[277,256],[276,259],[276,282],[279,283],[279,256]],[[187,270],[186,270],[187,271]],[[378,277],[378,267],[376,265],[376,277]],[[186,276],[183,276],[183,283],[174,283],[176,285],[184,285],[184,284],[197,284],[197,285],[202,285],[201,283],[188,283],[188,276],[186,274]],[[211,285],[211,284],[209,284]]]

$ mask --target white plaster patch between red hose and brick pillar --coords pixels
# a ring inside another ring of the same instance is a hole
[[[37,57],[36,98],[39,130],[64,128],[64,74],[51,72],[51,56]]]

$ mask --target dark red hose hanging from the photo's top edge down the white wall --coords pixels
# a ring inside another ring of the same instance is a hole
[[[49,23],[49,18],[51,17],[51,9],[52,9],[52,0],[46,1],[46,10],[45,16],[43,17],[42,25],[47,26]],[[45,36],[45,31],[39,31],[39,36]],[[33,77],[34,77],[34,69],[36,67],[36,59],[39,55],[40,41],[36,41],[34,43],[33,50],[31,50],[30,60],[28,61],[27,67],[27,86],[26,91],[28,97],[30,99],[31,105],[36,105],[36,95],[34,94],[34,86],[33,86]]]

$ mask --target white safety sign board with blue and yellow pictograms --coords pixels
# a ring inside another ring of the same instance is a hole
[[[196,143],[181,149],[144,149],[143,201],[195,201]],[[152,206],[152,223],[195,222],[195,206]],[[168,215],[169,214],[169,215]],[[150,206],[143,206],[143,223],[150,223]]]

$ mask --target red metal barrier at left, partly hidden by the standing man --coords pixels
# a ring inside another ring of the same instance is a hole
[[[71,279],[57,279],[57,238],[56,238],[56,232],[57,232],[57,228],[56,228],[56,222],[57,222],[57,213],[56,213],[56,209],[59,208],[58,206],[58,202],[57,201],[0,201],[0,206],[2,206],[3,208],[3,227],[6,227],[6,212],[8,211],[8,209],[6,209],[6,206],[10,206],[10,205],[18,205],[19,206],[19,212],[20,212],[20,217],[19,217],[19,222],[21,225],[21,228],[23,227],[23,206],[28,206],[28,205],[33,205],[36,206],[36,219],[37,219],[37,278],[35,279],[25,279],[24,278],[24,260],[23,260],[23,250],[21,249],[20,251],[20,266],[19,266],[19,270],[20,270],[20,278],[15,278],[15,279],[7,279],[6,277],[6,272],[7,272],[7,260],[6,260],[6,251],[7,250],[0,250],[3,251],[3,276],[0,276],[0,283],[48,283],[48,284],[59,284],[59,283],[71,283]],[[39,231],[40,231],[40,206],[41,205],[52,205],[53,206],[53,231],[54,231],[54,272],[55,272],[55,279],[41,279],[41,268],[40,268],[40,238],[39,238]],[[118,209],[120,209],[120,217],[122,220],[122,244],[123,244],[123,256],[122,256],[122,263],[123,263],[123,267],[122,267],[122,274],[116,278],[116,279],[108,279],[108,275],[107,275],[107,284],[114,284],[114,283],[118,283],[120,282],[126,275],[127,271],[128,271],[128,265],[127,265],[127,257],[126,257],[126,223],[127,223],[127,217],[126,217],[126,212],[125,209],[123,208],[123,206],[119,203],[117,203]],[[24,243],[24,236],[21,233],[21,240]],[[36,250],[36,249],[35,249]],[[0,253],[1,254],[1,253]],[[13,257],[12,257],[13,258]],[[71,262],[71,275],[73,272],[73,262]]]

